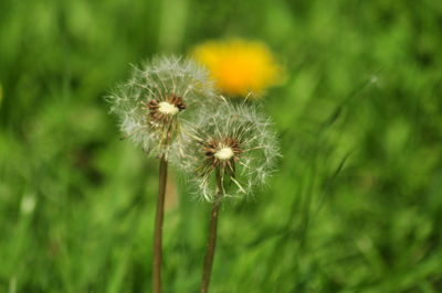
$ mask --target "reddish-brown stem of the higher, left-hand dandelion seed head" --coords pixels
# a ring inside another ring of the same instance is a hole
[[[154,293],[161,292],[162,221],[165,217],[166,183],[167,183],[167,161],[165,155],[162,155],[159,161],[159,189],[157,199],[157,210],[155,216],[154,268],[152,268]]]

